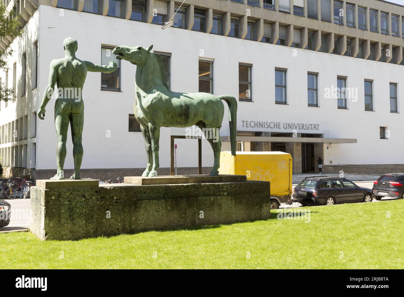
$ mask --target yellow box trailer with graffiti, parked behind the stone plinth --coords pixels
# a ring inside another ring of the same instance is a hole
[[[284,152],[221,152],[219,174],[271,182],[271,209],[292,203],[292,156]]]

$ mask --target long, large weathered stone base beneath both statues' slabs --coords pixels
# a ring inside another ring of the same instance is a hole
[[[267,219],[266,181],[32,187],[31,232],[42,240],[77,240]]]

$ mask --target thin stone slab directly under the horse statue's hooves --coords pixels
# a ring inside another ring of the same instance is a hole
[[[164,175],[158,177],[127,176],[124,183],[134,185],[170,185],[179,183],[229,183],[246,181],[245,175]]]

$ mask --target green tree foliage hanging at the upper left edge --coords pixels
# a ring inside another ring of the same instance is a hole
[[[3,2],[0,2],[0,37],[6,39],[8,37],[21,36],[21,23],[19,22],[19,16],[15,14],[15,11],[8,12]],[[11,48],[3,50],[0,48],[0,70],[7,70],[7,57],[13,54]],[[0,84],[0,101],[8,101],[13,98],[13,88],[7,88],[2,82]]]

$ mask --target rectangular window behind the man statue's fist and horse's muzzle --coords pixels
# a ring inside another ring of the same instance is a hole
[[[113,46],[101,46],[101,65],[109,65],[114,60],[118,67],[112,73],[101,73],[101,90],[120,91],[121,88],[121,61],[112,54]]]

